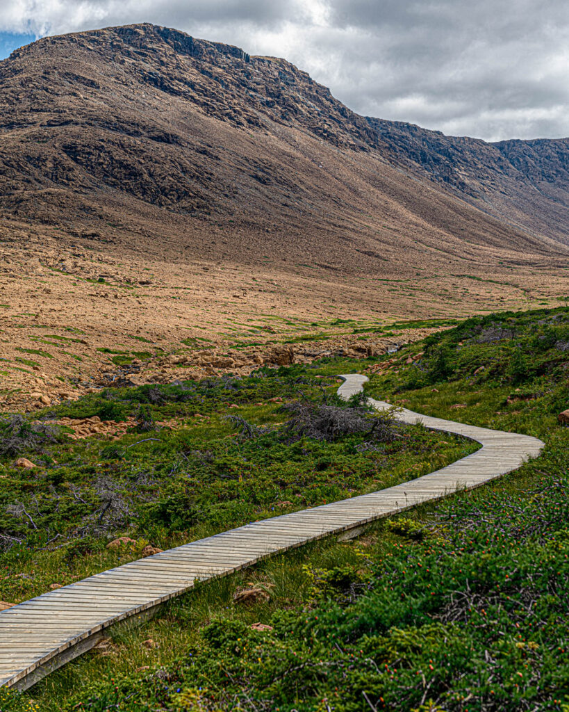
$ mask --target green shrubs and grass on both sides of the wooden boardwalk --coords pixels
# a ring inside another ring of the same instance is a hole
[[[149,389],[68,407],[74,416],[109,407],[115,419],[142,408],[139,429],[152,419],[188,422],[112,444],[46,444],[34,456],[41,469],[25,476],[16,476],[4,456],[4,511],[17,498],[32,518],[45,517],[34,530],[12,506],[0,520],[0,532],[22,540],[6,545],[1,560],[1,584],[15,586],[7,589],[14,600],[128,560],[148,541],[165,548],[379,489],[472,451],[472,444],[416,426],[374,444],[377,450],[362,446],[361,433],[330,441],[292,436],[285,425],[291,413],[270,398],[299,399],[300,389],[321,404],[323,393],[332,398],[338,372],[368,370],[374,397],[538,436],[546,450],[500,481],[384,520],[358,539],[309,545],[201,585],[144,625],[113,629],[100,649],[23,696],[3,701],[0,693],[0,708],[569,710],[569,431],[557,419],[569,407],[568,352],[568,309],[504,313],[427,337],[398,352],[389,367],[336,360],[233,385],[191,384],[200,407],[171,397],[149,402]],[[211,420],[194,426],[193,412]],[[240,435],[247,429],[224,420],[228,413],[257,429]],[[128,447],[149,436],[158,441]],[[118,483],[123,497],[125,489],[131,493],[129,514],[115,518],[114,528],[110,521],[97,525],[110,498],[109,486],[104,494],[92,486],[97,476]],[[133,487],[138,481],[142,496]],[[87,504],[77,502],[77,488]],[[70,513],[60,521],[63,503],[54,498],[62,492]],[[38,514],[32,505],[33,498],[44,502],[41,493],[46,507]],[[56,533],[61,537],[46,544]],[[118,534],[136,540],[134,550],[110,553],[105,544]],[[261,592],[254,602],[235,600],[235,592],[252,587]]]

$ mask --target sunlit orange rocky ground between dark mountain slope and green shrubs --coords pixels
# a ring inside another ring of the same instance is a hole
[[[0,244],[3,409],[45,407],[117,377],[167,382],[383,352],[430,331],[375,331],[396,320],[553,306],[567,293],[565,270],[551,266],[330,276],[307,266],[145,262],[18,224],[10,234]]]

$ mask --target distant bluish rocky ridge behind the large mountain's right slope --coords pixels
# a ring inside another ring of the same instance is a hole
[[[368,117],[390,160],[479,209],[569,244],[569,139],[487,143]]]

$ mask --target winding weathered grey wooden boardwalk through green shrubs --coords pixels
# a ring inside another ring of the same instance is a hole
[[[367,380],[343,376],[342,397]],[[378,409],[389,404],[374,401]],[[536,457],[533,437],[430,418],[409,410],[405,422],[460,434],[482,448],[454,464],[404,484],[351,499],[252,522],[160,554],[90,576],[0,612],[0,686],[27,689],[94,646],[110,625],[142,617],[191,590],[194,583],[228,575],[261,559],[460,489],[474,488]]]

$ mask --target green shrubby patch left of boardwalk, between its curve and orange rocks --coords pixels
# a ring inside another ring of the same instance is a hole
[[[322,365],[326,370],[333,362]],[[361,398],[341,401],[336,388],[335,379],[301,366],[108,388],[43,417],[131,419],[127,434],[73,441],[68,429],[47,424],[55,440],[31,439],[28,449],[18,441],[17,454],[37,466],[29,471],[12,466],[12,435],[3,449],[0,432],[2,600],[23,600],[50,583],[116,565],[105,545],[119,535],[169,548],[390,486],[476,449],[395,424]],[[44,426],[23,419],[21,427]],[[76,546],[85,549],[80,557]],[[128,550],[126,560],[139,551]]]

